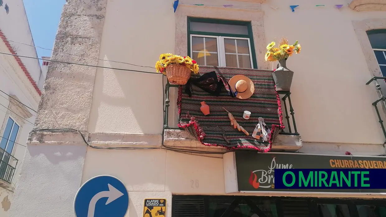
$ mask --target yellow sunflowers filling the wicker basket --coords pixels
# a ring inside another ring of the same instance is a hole
[[[178,56],[171,53],[161,54],[156,62],[156,70],[159,73],[166,75],[166,67],[170,65],[181,65],[188,68],[191,72],[198,73],[197,62],[189,56]]]

